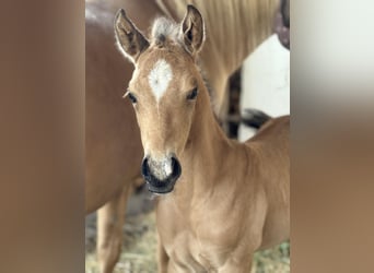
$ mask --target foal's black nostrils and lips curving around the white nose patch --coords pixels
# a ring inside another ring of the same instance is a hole
[[[177,158],[172,157],[171,161],[172,173],[167,177],[160,179],[154,174],[152,174],[149,165],[149,158],[145,157],[143,159],[141,164],[141,174],[147,181],[149,191],[163,194],[168,193],[174,189],[174,185],[182,174],[182,168]]]

